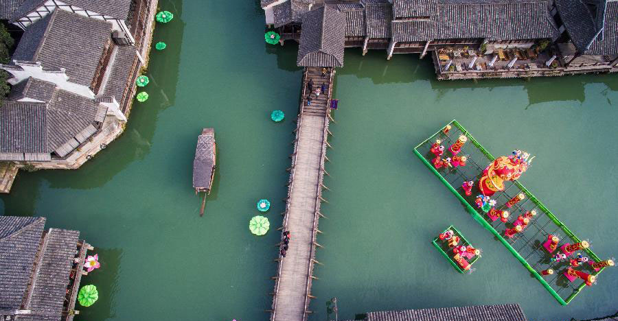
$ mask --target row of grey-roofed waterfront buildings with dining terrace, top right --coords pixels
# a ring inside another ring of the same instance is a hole
[[[343,30],[329,27],[340,27],[339,14],[315,19],[323,7],[344,14]],[[299,66],[318,67],[304,63],[307,48],[343,38],[363,55],[384,49],[387,59],[433,52],[438,79],[618,71],[618,0],[262,0],[262,8],[282,45],[299,42]],[[304,37],[304,29],[332,32]]]

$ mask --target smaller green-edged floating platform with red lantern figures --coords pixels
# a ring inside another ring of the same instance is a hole
[[[453,225],[448,226],[431,243],[459,273],[471,273],[472,264],[481,257],[481,250],[474,248]]]

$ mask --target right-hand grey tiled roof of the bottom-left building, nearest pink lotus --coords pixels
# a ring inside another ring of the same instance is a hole
[[[50,228],[45,237],[43,258],[35,276],[30,305],[26,307],[36,314],[56,316],[45,320],[60,320],[79,236],[76,230]]]

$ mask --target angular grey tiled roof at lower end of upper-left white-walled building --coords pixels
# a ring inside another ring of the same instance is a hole
[[[0,108],[0,152],[54,152],[94,123],[98,106],[58,88],[47,104],[6,101]]]

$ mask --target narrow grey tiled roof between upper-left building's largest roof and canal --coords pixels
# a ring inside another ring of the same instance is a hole
[[[120,106],[123,106],[124,91],[128,86],[134,86],[131,78],[133,64],[137,60],[137,51],[133,46],[118,46],[109,80],[102,95],[114,96]]]

